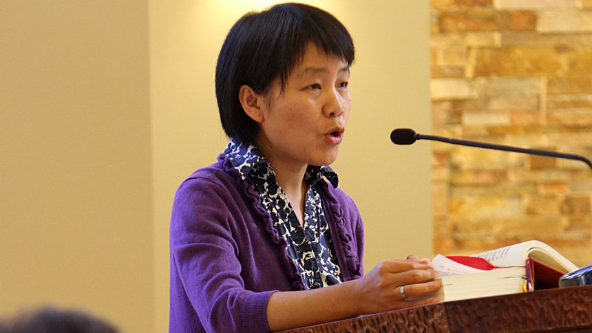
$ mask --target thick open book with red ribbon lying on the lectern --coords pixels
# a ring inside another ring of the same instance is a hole
[[[430,263],[442,288],[418,298],[456,301],[557,288],[559,278],[578,269],[542,241],[531,240],[470,257],[437,255]]]

